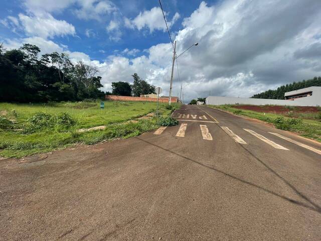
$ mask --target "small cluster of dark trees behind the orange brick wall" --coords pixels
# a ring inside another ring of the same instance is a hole
[[[155,94],[155,86],[148,84],[145,80],[141,79],[138,74],[131,75],[134,79],[133,84],[128,82],[112,82],[112,92],[106,94],[122,95],[122,96],[140,96],[141,94]]]

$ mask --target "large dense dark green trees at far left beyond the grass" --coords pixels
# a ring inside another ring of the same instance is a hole
[[[103,98],[96,67],[73,64],[65,53],[39,56],[38,46],[6,50],[0,44],[0,101],[47,102]]]

